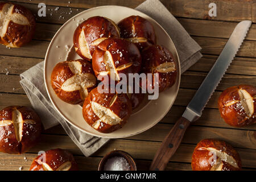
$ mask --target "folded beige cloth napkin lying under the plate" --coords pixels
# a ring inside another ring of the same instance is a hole
[[[159,22],[171,36],[180,57],[181,72],[191,67],[200,59],[201,47],[188,35],[179,22],[158,0],[147,0],[139,5],[137,10],[151,16]],[[109,139],[88,135],[76,127],[70,125],[61,117],[49,100],[44,85],[43,77],[44,61],[28,69],[20,75],[20,84],[25,90],[32,106],[42,119],[44,129],[56,126],[60,123],[69,137],[76,143],[85,156],[92,155]]]

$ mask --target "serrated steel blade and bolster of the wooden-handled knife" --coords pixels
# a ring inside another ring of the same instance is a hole
[[[221,78],[224,76],[230,63],[232,63],[236,56],[236,53],[245,39],[250,26],[251,21],[244,20],[238,23],[236,28],[234,28],[234,31],[232,32],[220,56],[218,56],[218,59],[212,69],[210,69],[207,77],[205,77],[195,96],[193,96],[191,102],[189,102],[182,115],[184,118],[187,118],[189,121],[195,121],[197,118],[201,117],[205,105],[220,83]]]

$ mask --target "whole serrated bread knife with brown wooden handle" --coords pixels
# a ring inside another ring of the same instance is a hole
[[[238,23],[236,28],[234,28],[234,31],[220,56],[218,56],[218,59],[214,63],[212,69],[210,69],[207,77],[205,77],[195,96],[193,96],[191,102],[189,102],[182,117],[178,119],[166,138],[164,138],[158,151],[156,151],[150,166],[151,171],[164,170],[164,168],[166,168],[167,163],[179,147],[185,134],[185,130],[187,130],[191,122],[196,121],[196,119],[201,117],[205,105],[220,83],[221,78],[224,76],[230,63],[236,56],[250,26],[251,21],[244,20]]]

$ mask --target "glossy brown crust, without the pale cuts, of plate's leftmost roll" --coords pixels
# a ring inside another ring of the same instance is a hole
[[[82,73],[91,73],[94,75],[92,64],[86,60],[71,60],[71,61],[79,61],[82,64]],[[71,78],[75,74],[69,69],[68,63],[71,61],[63,61],[53,68],[52,75],[51,75],[51,85],[53,90],[55,91],[56,95],[63,101],[68,102],[69,104],[79,104],[80,102],[84,101],[81,98],[79,90],[75,90],[72,92],[66,92],[61,89],[63,83]],[[97,85],[94,85],[88,88],[88,93],[90,90],[95,88]]]

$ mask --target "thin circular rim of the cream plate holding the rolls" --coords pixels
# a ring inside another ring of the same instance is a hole
[[[122,8],[125,8],[125,9],[131,9],[131,10],[133,10],[133,11],[138,11],[139,13],[144,14],[144,15],[146,15],[147,17],[149,17],[155,24],[157,24],[160,28],[162,28],[162,30],[163,30],[163,31],[166,33],[166,35],[170,38],[171,44],[174,46],[174,49],[175,49],[175,52],[176,52],[176,55],[177,55],[177,60],[176,60],[176,62],[179,64],[178,76],[177,76],[177,78],[176,78],[176,79],[178,80],[178,83],[177,83],[177,90],[176,90],[176,93],[175,93],[175,98],[174,98],[173,102],[170,104],[170,107],[168,107],[168,109],[166,110],[166,112],[163,114],[163,117],[160,117],[157,121],[155,121],[152,125],[146,127],[144,130],[141,130],[141,131],[138,131],[137,133],[133,133],[133,134],[129,134],[129,135],[123,135],[122,137],[111,137],[111,136],[108,136],[108,135],[106,135],[106,136],[101,136],[101,135],[93,134],[93,133],[90,133],[90,132],[88,132],[88,131],[82,129],[80,126],[77,126],[75,123],[69,121],[69,119],[67,119],[67,118],[64,116],[64,114],[61,113],[61,111],[56,107],[55,102],[53,101],[53,99],[52,99],[52,97],[51,97],[51,94],[49,93],[49,88],[48,88],[48,86],[47,86],[47,81],[46,81],[46,66],[47,66],[47,61],[46,61],[46,60],[47,60],[47,58],[48,58],[48,52],[49,52],[49,49],[52,47],[52,43],[53,43],[53,41],[55,40],[56,36],[59,35],[59,32],[61,31],[61,29],[62,29],[64,26],[66,26],[66,24],[68,24],[69,22],[71,22],[73,18],[76,18],[77,16],[79,16],[79,15],[81,15],[81,14],[84,14],[84,13],[86,13],[86,12],[88,12],[88,11],[92,11],[92,10],[95,10],[95,9],[108,8],[108,7],[122,7]],[[67,20],[67,22],[65,22],[65,23],[59,28],[59,30],[57,30],[57,32],[56,32],[55,35],[53,36],[51,42],[49,43],[49,46],[48,46],[47,51],[46,51],[46,56],[44,57],[44,85],[46,86],[46,92],[47,92],[47,94],[48,94],[49,100],[51,101],[51,104],[53,105],[54,109],[57,111],[58,114],[61,115],[62,118],[65,119],[65,121],[67,121],[67,122],[68,122],[69,124],[71,124],[72,126],[76,127],[76,129],[79,129],[80,131],[82,131],[82,132],[84,132],[84,133],[86,133],[86,134],[92,135],[92,136],[94,136],[94,137],[100,137],[100,138],[109,138],[109,139],[111,139],[111,138],[113,138],[113,139],[114,139],[114,138],[126,138],[126,137],[131,137],[131,136],[134,136],[134,135],[143,133],[144,131],[147,131],[147,130],[151,129],[151,127],[155,126],[157,123],[159,123],[159,121],[160,121],[161,119],[163,119],[163,118],[166,116],[166,114],[170,111],[171,107],[174,105],[174,102],[175,102],[175,100],[176,100],[176,98],[177,98],[177,93],[179,92],[179,88],[180,88],[180,78],[181,78],[180,58],[179,58],[179,54],[178,54],[178,52],[177,52],[177,49],[176,49],[176,47],[175,47],[175,44],[174,44],[174,42],[172,41],[170,35],[166,32],[166,30],[165,30],[158,22],[156,22],[156,20],[155,20],[154,18],[151,18],[151,16],[149,16],[149,15],[143,13],[142,11],[133,9],[133,8],[131,8],[131,7],[126,7],[126,6],[117,6],[117,5],[97,6],[97,7],[92,7],[92,8],[90,8],[90,9],[84,10],[84,11],[80,12],[79,14],[76,14],[76,15],[72,16],[70,19]]]

